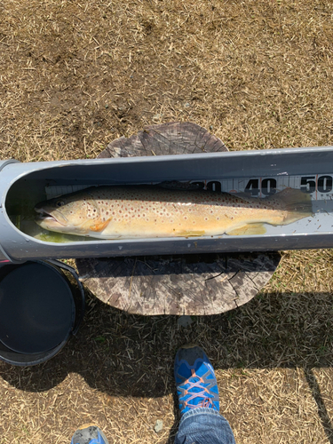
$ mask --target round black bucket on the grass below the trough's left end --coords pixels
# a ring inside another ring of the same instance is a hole
[[[83,313],[83,285],[71,266],[50,260],[0,267],[0,360],[48,361],[75,335]]]

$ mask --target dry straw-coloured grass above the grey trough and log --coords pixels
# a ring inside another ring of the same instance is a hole
[[[230,149],[329,145],[332,4],[4,1],[1,156],[94,157],[192,120]]]

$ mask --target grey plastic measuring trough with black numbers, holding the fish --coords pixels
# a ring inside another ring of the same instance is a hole
[[[191,181],[215,191],[266,197],[286,187],[311,194],[313,216],[266,234],[168,239],[98,240],[54,235],[37,226],[34,207],[88,186]],[[285,148],[195,155],[0,163],[0,257],[98,258],[202,252],[333,247],[333,147]]]

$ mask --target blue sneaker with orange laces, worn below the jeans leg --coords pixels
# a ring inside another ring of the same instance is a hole
[[[206,353],[198,345],[183,345],[175,358],[180,415],[193,408],[219,411],[218,384]]]

